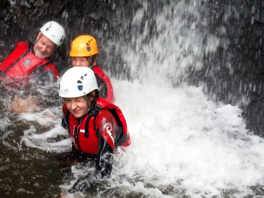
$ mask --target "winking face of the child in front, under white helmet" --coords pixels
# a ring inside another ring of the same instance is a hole
[[[80,118],[87,113],[88,107],[83,96],[64,99],[67,109],[69,109],[69,111],[75,116],[75,118]]]

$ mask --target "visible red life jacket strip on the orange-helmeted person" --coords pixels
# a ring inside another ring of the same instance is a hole
[[[96,65],[93,68],[93,71],[94,71],[94,74],[97,75],[99,78],[101,78],[107,86],[107,98],[106,98],[106,100],[111,102],[111,103],[114,103],[115,97],[114,97],[113,87],[112,87],[110,79],[106,76],[104,71],[98,65]]]

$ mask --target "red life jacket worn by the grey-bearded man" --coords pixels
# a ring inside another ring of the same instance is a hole
[[[33,52],[29,51],[29,43],[20,41],[16,43],[13,52],[0,63],[0,70],[10,78],[22,77],[30,75],[38,67],[48,63],[47,59],[37,57]],[[56,79],[59,72],[54,63],[49,63],[45,70],[51,70]]]

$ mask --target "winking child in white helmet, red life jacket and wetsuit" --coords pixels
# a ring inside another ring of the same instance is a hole
[[[111,174],[113,153],[130,145],[126,120],[118,106],[99,97],[94,72],[89,67],[72,67],[62,76],[59,96],[65,122],[72,138],[72,153],[79,160],[95,159],[95,173],[78,180],[72,191],[85,191],[98,178]]]

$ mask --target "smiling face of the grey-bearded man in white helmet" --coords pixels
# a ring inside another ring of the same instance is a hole
[[[56,46],[55,43],[39,32],[37,43],[34,46],[34,53],[39,58],[47,58],[53,53]]]

